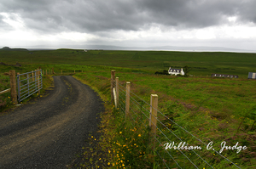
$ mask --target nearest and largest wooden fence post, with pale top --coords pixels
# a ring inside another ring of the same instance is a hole
[[[157,127],[157,109],[158,109],[158,95],[151,94],[150,96],[150,115],[149,115],[149,127],[151,127],[151,132],[153,136],[156,135],[156,127]],[[154,138],[153,138],[154,139]],[[153,149],[155,147],[155,139],[153,143]]]

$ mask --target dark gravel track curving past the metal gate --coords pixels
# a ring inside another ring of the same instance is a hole
[[[67,168],[96,133],[101,99],[73,76],[54,76],[54,90],[0,116],[0,168]]]

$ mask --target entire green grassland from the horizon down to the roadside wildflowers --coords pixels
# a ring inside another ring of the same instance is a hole
[[[4,63],[15,65],[15,62],[19,62],[22,65],[21,67],[0,65],[0,72],[15,69],[16,72],[24,73],[38,67],[41,67],[44,72],[45,70],[49,72],[51,68],[54,68],[55,73],[59,74],[61,70],[63,73],[76,70],[74,76],[91,87],[96,87],[106,103],[110,103],[110,71],[116,70],[120,83],[125,86],[125,82],[131,82],[131,91],[145,101],[149,102],[151,93],[158,94],[160,111],[201,140],[208,142],[211,139],[217,144],[226,140],[231,145],[235,145],[236,142],[247,145],[248,149],[239,154],[229,151],[225,155],[242,168],[256,166],[256,132],[253,127],[256,120],[256,81],[247,79],[248,72],[256,70],[254,64],[256,54],[156,51],[84,52],[59,49],[32,52],[0,50],[0,56],[0,61]],[[184,65],[193,68],[190,74],[195,77],[154,75],[157,70],[167,70],[169,66],[180,68]],[[81,72],[82,70],[84,73]],[[238,79],[210,78],[212,73],[233,74],[240,77]],[[9,88],[8,76],[0,75],[0,81],[0,91]],[[8,105],[4,104],[4,102],[9,102],[8,93],[0,97],[2,100],[0,106]],[[113,115],[117,116],[117,114]],[[119,132],[125,132],[125,129],[117,127],[118,122],[122,121],[121,117],[117,116],[116,119],[112,119],[111,116],[105,117],[103,121],[113,126],[104,126],[105,129],[108,128],[105,132],[109,138],[104,144],[111,147],[108,150],[113,153],[118,148],[107,144],[117,140],[119,143],[124,143],[125,140],[119,137]],[[134,133],[127,134],[136,138]],[[139,140],[137,142],[139,143]],[[193,143],[192,140],[190,143]],[[145,151],[143,142],[140,145],[142,149],[139,150]],[[137,150],[134,154],[135,152]],[[117,161],[114,155],[116,154],[113,153],[111,158]],[[132,158],[131,154],[124,153],[123,155]],[[152,156],[144,155],[143,158],[152,159]],[[134,159],[130,161],[143,165],[143,160],[139,157],[137,159],[137,161]],[[126,161],[125,165],[129,166],[128,164],[129,162]],[[145,164],[150,166],[154,165],[154,162],[145,161]],[[150,167],[153,168],[153,166]],[[222,167],[224,166],[218,166],[218,168]]]

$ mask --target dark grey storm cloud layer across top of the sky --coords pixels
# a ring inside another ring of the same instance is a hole
[[[0,11],[19,14],[29,29],[44,32],[139,31],[151,25],[174,29],[256,23],[254,0],[0,0]],[[0,18],[0,25],[3,25]]]

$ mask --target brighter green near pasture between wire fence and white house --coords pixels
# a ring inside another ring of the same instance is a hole
[[[109,95],[109,68],[92,69],[86,71],[86,74],[79,73],[75,76],[78,76],[85,82],[89,82],[92,86],[98,87],[102,91],[102,95]],[[255,112],[256,105],[255,81],[246,79],[156,76],[126,72],[125,70],[118,70],[116,76],[119,76],[119,81],[124,86],[125,82],[131,82],[131,91],[148,103],[151,93],[158,94],[160,111],[206,143],[209,140],[213,140],[215,145],[220,145],[223,141],[227,141],[231,145],[235,145],[236,142],[247,145],[247,151],[239,154],[233,151],[233,153],[227,152],[223,155],[228,156],[231,161],[235,161],[239,166],[243,166],[242,168],[256,166],[256,161],[253,160],[256,155],[253,152],[253,149],[256,148],[254,139],[256,138],[256,132],[255,127],[253,127],[255,122],[253,112]],[[118,119],[117,116],[119,115],[115,114],[114,116]],[[114,122],[113,124],[115,124],[114,126],[118,125],[118,123]],[[116,132],[125,133],[122,120],[119,120],[119,124],[122,125],[118,127]],[[166,125],[171,124],[166,123]],[[135,137],[134,133],[129,134],[131,134],[131,137]],[[180,137],[187,137],[185,140],[189,140],[190,144],[195,142],[188,135],[184,133],[179,134]],[[124,136],[118,137],[120,134],[116,135],[117,138],[113,138],[111,141],[119,140],[119,143],[124,144],[125,140],[122,140]],[[108,136],[108,138],[111,137]],[[176,140],[177,143],[179,142],[179,140],[173,137],[172,140]],[[137,140],[138,143],[140,142]],[[141,151],[145,151],[143,143],[140,143],[142,146]],[[117,147],[115,150],[112,149],[112,151],[118,151],[118,149]],[[117,157],[115,158],[118,159]],[[147,158],[150,159],[149,157]],[[223,168],[228,166],[216,167]]]

